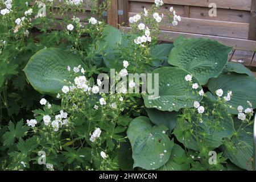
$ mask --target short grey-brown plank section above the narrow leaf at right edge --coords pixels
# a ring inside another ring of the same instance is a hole
[[[241,63],[245,66],[249,66],[251,64],[251,60],[253,60],[253,51],[242,51],[237,50],[234,52],[230,62],[232,63]]]

